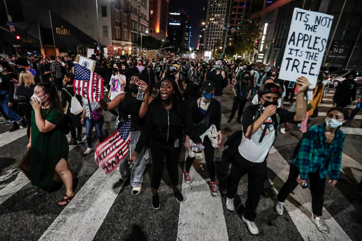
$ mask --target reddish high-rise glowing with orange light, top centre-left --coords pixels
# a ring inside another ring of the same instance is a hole
[[[150,0],[149,34],[159,40],[167,37],[168,3],[169,0]]]

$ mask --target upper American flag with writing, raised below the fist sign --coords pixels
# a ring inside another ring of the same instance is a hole
[[[98,102],[103,98],[102,76],[74,63],[74,92],[91,102]]]

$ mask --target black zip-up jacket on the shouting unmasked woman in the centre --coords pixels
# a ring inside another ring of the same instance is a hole
[[[140,152],[144,145],[152,139],[163,145],[174,146],[175,140],[182,137],[184,130],[184,116],[182,108],[172,106],[169,111],[157,100],[149,106],[144,120],[141,135],[136,144],[135,151]]]

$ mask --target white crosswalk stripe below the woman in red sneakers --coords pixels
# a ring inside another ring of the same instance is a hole
[[[209,185],[193,166],[190,176],[191,184],[182,178],[184,202],[180,203],[177,241],[228,240],[220,193],[212,196]]]

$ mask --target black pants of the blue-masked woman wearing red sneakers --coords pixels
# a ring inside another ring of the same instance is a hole
[[[205,153],[205,161],[207,165],[207,171],[209,171],[210,181],[215,181],[215,162],[214,162],[214,155],[215,155],[215,149],[211,146],[211,141],[209,137],[205,137],[203,141],[203,145],[205,146],[204,153]],[[186,158],[186,172],[190,171],[191,165],[194,162],[195,157],[188,156]]]

